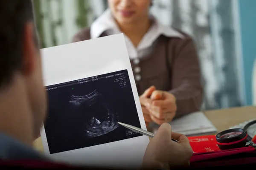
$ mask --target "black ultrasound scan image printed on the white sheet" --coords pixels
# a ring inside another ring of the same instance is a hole
[[[46,87],[44,123],[50,154],[142,136],[120,126],[141,128],[128,71]]]

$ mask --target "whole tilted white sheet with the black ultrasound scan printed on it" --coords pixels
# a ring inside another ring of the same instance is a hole
[[[148,137],[117,125],[146,130],[123,34],[41,52],[49,99],[44,152],[71,164],[140,166]]]

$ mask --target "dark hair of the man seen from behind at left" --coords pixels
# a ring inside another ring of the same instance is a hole
[[[0,0],[0,88],[22,69],[24,28],[33,20],[31,0]]]

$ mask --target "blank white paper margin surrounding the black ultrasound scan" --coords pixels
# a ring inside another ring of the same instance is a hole
[[[123,34],[44,48],[41,54],[45,86],[127,69],[140,125],[146,130]],[[41,139],[45,154],[57,161],[114,167],[140,166],[149,142],[147,136],[139,136],[49,155],[44,126],[41,128]]]

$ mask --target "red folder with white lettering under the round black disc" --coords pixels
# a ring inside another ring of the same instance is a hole
[[[220,150],[215,135],[188,138],[194,151],[190,159],[191,166],[193,167],[256,163],[256,148],[254,147]]]

